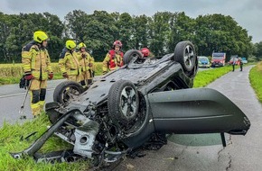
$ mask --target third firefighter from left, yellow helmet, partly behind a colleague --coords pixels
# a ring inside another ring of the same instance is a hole
[[[78,58],[81,66],[80,84],[83,87],[90,85],[94,76],[94,58],[92,58],[89,52],[86,51],[87,46],[85,43],[80,42],[78,45]]]

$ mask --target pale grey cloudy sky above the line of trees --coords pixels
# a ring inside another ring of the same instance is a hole
[[[58,15],[61,20],[73,10],[86,14],[97,11],[131,15],[153,16],[157,12],[184,12],[196,18],[199,15],[230,15],[252,36],[252,42],[262,41],[261,0],[1,0],[4,14],[44,13]]]

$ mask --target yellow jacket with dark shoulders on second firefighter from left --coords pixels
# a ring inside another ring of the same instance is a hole
[[[69,76],[80,75],[81,67],[76,52],[62,49],[58,65],[62,73],[67,73]]]

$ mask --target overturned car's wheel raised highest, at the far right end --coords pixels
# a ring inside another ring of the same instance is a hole
[[[182,65],[184,71],[192,71],[196,58],[195,49],[191,41],[185,40],[177,43],[173,59]]]

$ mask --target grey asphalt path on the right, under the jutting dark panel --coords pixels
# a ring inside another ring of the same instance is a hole
[[[209,88],[225,94],[246,113],[251,128],[246,136],[226,134],[223,148],[219,134],[173,135],[168,144],[145,157],[126,158],[114,170],[136,171],[259,171],[262,170],[262,105],[249,85],[251,66],[237,69]]]

